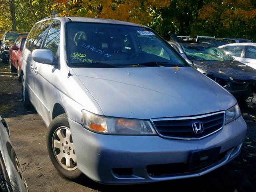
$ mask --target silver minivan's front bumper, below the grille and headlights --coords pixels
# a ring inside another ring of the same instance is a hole
[[[174,140],[160,136],[114,136],[91,132],[69,119],[78,168],[92,180],[105,184],[136,184],[190,178],[206,174],[235,158],[246,136],[242,116],[201,140]],[[152,175],[150,165],[185,163],[193,150],[220,146],[217,163],[196,171]],[[116,174],[116,168],[132,174]],[[125,168],[125,169],[124,169]]]

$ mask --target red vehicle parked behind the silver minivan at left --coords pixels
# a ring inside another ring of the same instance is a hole
[[[20,69],[22,65],[22,50],[25,44],[27,36],[19,36],[12,46],[10,46],[9,49],[9,64],[10,64],[10,70],[12,72],[17,71],[19,81],[21,81],[20,78]]]

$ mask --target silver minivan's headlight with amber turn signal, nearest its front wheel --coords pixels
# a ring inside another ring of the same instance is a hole
[[[116,135],[152,135],[156,134],[147,120],[125,119],[98,116],[86,110],[82,111],[82,124],[94,132]]]

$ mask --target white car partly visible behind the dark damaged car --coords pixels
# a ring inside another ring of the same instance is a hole
[[[256,43],[232,43],[219,46],[227,54],[256,69]]]

